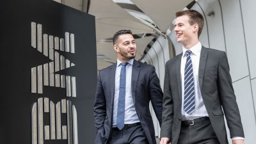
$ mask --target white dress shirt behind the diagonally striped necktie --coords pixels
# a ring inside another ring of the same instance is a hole
[[[195,84],[195,111],[191,113],[190,115],[184,111],[184,69],[186,65],[187,56],[185,54],[188,49],[185,49],[182,47],[182,58],[180,63],[180,78],[181,78],[181,84],[182,84],[182,120],[189,120],[189,119],[195,119],[200,118],[204,116],[208,116],[208,113],[205,109],[204,101],[202,99],[200,86],[199,86],[199,79],[198,79],[198,70],[199,70],[199,61],[200,61],[200,53],[201,53],[202,45],[200,42],[196,44],[195,46],[191,47],[189,50],[191,51],[190,58],[193,65],[193,76],[194,76],[194,84]]]

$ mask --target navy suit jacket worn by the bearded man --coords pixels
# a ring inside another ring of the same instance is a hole
[[[100,70],[94,105],[94,121],[97,128],[96,144],[107,143],[113,127],[113,100],[115,93],[116,64]],[[132,100],[141,126],[150,144],[156,144],[154,125],[149,102],[161,125],[163,92],[154,66],[134,60],[131,77]]]

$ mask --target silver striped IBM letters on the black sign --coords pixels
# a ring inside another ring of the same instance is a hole
[[[43,93],[43,86],[65,88],[67,97],[76,97],[76,77],[56,74],[75,64],[58,51],[75,53],[74,34],[65,32],[65,39],[42,34],[42,24],[31,22],[31,47],[44,54],[51,62],[31,68],[31,93]],[[54,51],[55,50],[55,51]],[[44,122],[45,114],[49,122]],[[64,122],[61,115],[65,116]],[[46,124],[46,125],[44,125]],[[44,144],[44,140],[67,140],[78,144],[77,112],[70,100],[61,99],[57,104],[41,97],[31,110],[32,144]]]

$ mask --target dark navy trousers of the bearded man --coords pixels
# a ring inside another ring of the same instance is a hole
[[[136,125],[121,131],[113,129],[108,144],[148,144],[148,140],[142,126]]]

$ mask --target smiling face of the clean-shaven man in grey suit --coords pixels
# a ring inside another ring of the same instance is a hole
[[[177,42],[183,44],[185,48],[190,48],[198,43],[198,24],[189,24],[188,15],[177,17],[174,31]]]

